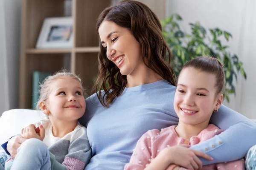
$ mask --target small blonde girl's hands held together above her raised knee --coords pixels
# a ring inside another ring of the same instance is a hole
[[[21,129],[21,136],[26,139],[36,138],[43,141],[45,136],[45,129],[43,125],[40,125],[39,129],[35,129],[35,125],[30,124],[27,127]]]

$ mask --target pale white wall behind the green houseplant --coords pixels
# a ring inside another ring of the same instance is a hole
[[[233,39],[227,44],[239,56],[247,80],[239,78],[236,97],[230,96],[228,107],[250,119],[256,119],[256,1],[255,0],[166,0],[166,17],[180,14],[183,29],[199,21],[206,28],[229,31]],[[254,39],[253,39],[254,38]]]

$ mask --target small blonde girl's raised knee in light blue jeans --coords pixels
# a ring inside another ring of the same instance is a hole
[[[39,139],[27,139],[20,145],[11,170],[50,170],[48,147]]]

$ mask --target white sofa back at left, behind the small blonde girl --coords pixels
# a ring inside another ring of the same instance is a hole
[[[0,144],[20,134],[20,130],[26,125],[38,122],[42,118],[45,118],[44,113],[29,109],[12,109],[3,112],[0,117]],[[253,121],[256,122],[256,119]]]

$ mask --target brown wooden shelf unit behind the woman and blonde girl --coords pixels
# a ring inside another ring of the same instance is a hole
[[[32,108],[33,71],[54,73],[65,66],[67,59],[70,71],[80,75],[84,87],[91,91],[98,74],[96,19],[111,0],[71,0],[73,48],[35,48],[44,18],[64,17],[65,1],[22,0],[19,108]]]

